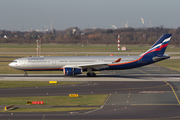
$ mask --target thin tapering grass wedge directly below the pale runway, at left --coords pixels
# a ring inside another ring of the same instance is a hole
[[[49,83],[49,81],[0,81],[0,88],[21,88],[21,87],[39,87],[39,86],[55,86],[55,85],[74,85],[84,82],[60,82],[57,84]]]

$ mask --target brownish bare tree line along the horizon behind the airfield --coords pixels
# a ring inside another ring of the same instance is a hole
[[[66,30],[53,30],[50,32],[20,32],[0,31],[1,43],[36,44],[37,39],[42,43],[54,44],[117,44],[117,36],[120,34],[121,44],[153,44],[161,35],[172,34],[170,44],[180,45],[180,27],[164,28],[120,28],[120,29],[84,29],[77,27]]]

